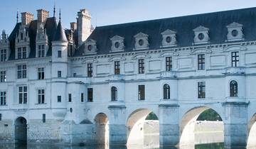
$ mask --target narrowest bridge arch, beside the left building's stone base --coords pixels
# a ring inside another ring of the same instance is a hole
[[[95,116],[95,140],[98,145],[108,145],[109,143],[109,119],[107,114],[99,113]]]

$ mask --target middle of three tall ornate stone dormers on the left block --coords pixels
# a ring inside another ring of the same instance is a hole
[[[26,25],[21,25],[19,28],[18,33],[16,34],[15,45],[15,58],[28,58],[30,53],[30,38],[28,37]]]

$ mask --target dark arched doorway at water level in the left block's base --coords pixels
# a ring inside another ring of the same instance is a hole
[[[27,143],[27,121],[26,118],[19,117],[15,121],[15,143]]]

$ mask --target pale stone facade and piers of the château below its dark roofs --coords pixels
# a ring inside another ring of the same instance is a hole
[[[210,29],[205,30],[207,35]],[[107,132],[103,131],[107,125],[108,142],[126,144],[134,123],[153,111],[159,118],[160,145],[176,145],[186,135],[189,121],[204,110],[213,109],[223,119],[225,145],[244,147],[256,113],[256,40],[208,44],[208,38],[203,41],[207,44],[191,42],[189,47],[176,47],[182,37],[177,35],[176,40],[176,32],[171,33],[174,43],[154,50],[149,50],[150,35],[143,34],[146,45],[139,45],[139,39],[135,43],[143,50],[137,47],[129,52],[100,55],[94,49],[92,55],[68,57],[68,42],[59,40],[52,42],[52,56],[0,62],[0,72],[6,72],[6,79],[0,82],[0,92],[6,92],[6,104],[0,106],[0,141],[14,143],[16,119],[23,117],[28,143],[105,142],[102,132]],[[82,33],[80,42],[85,37],[86,33]],[[88,46],[87,41],[84,44]],[[93,43],[97,48],[97,40]],[[85,49],[86,52],[88,47]],[[27,52],[29,57],[30,50]],[[235,52],[239,58],[236,65],[232,63]],[[204,55],[205,61],[200,70],[198,55]],[[171,57],[171,69],[167,71],[166,57]],[[144,60],[142,73],[139,60]],[[117,61],[119,73],[115,70]],[[26,77],[18,79],[18,65],[26,65]],[[38,68],[43,68],[43,79],[39,79]],[[92,77],[88,77],[89,69]],[[230,96],[232,80],[238,83],[237,96]],[[204,96],[200,98],[198,82],[205,82]],[[167,99],[164,84],[169,85]],[[139,85],[144,85],[143,100],[139,100]],[[19,102],[19,87],[27,87],[22,91],[27,94],[26,104]],[[117,88],[115,101],[112,87]],[[87,98],[88,88],[93,90],[92,101]],[[39,101],[41,89],[44,101]]]

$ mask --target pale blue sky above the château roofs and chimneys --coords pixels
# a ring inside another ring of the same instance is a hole
[[[16,24],[16,11],[28,11],[36,19],[37,9],[46,9],[53,16],[54,0],[1,0],[0,31],[8,34]],[[80,9],[92,14],[93,26],[170,18],[196,13],[225,11],[256,6],[255,0],[55,0],[56,9],[61,9],[65,28],[75,21]],[[20,14],[19,17],[21,18]],[[19,20],[21,21],[21,19]]]

